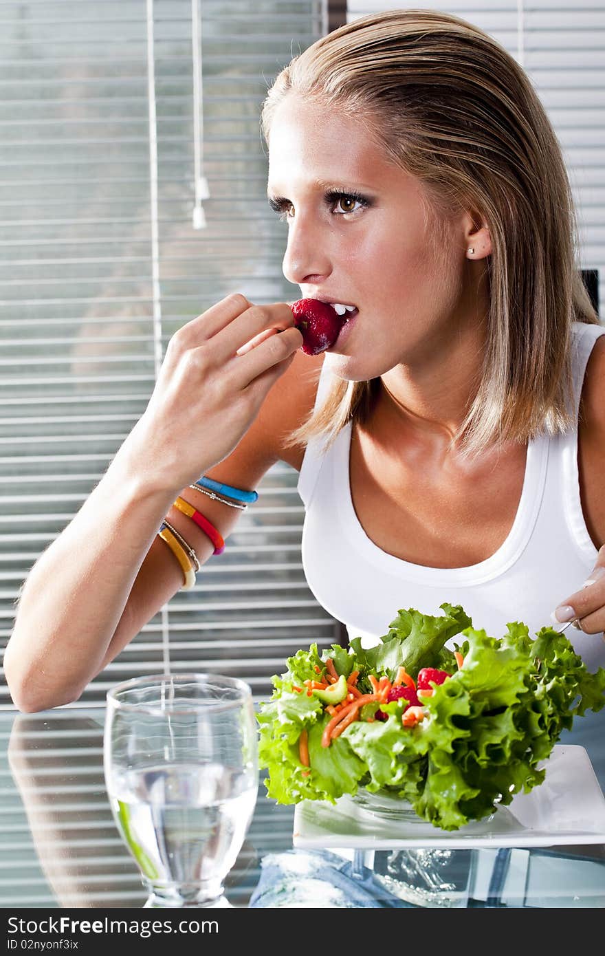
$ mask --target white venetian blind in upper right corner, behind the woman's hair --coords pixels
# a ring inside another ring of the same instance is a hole
[[[349,0],[348,21],[397,10],[397,0]],[[580,265],[593,293],[605,289],[605,8],[603,0],[422,0],[480,27],[528,74],[568,169],[580,231]],[[587,274],[588,273],[588,274]],[[592,288],[592,284],[597,288]]]

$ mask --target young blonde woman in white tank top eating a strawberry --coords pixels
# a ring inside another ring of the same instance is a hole
[[[351,635],[443,601],[496,636],[557,608],[604,663],[605,329],[528,77],[463,20],[389,12],[296,57],[263,125],[285,275],[357,311],[315,357],[288,304],[239,294],[172,338],[140,421],[25,582],[15,704],[76,700],[278,460],[300,471],[309,584]]]

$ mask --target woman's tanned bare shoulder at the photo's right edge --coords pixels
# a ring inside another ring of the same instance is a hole
[[[605,336],[594,343],[580,404],[578,467],[586,527],[594,546],[605,543]]]

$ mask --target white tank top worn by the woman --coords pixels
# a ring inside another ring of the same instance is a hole
[[[349,639],[364,646],[388,631],[400,608],[442,614],[440,604],[462,604],[473,625],[502,637],[508,621],[522,620],[534,634],[552,625],[551,613],[579,590],[594,568],[597,549],[586,528],[577,467],[577,411],[600,325],[573,324],[576,426],[554,438],[529,442],[519,507],[508,537],[485,561],[465,568],[429,568],[382,551],[361,527],[351,497],[351,423],[327,451],[321,438],[307,445],[298,479],[305,506],[302,560],[313,595]],[[324,401],[332,372],[324,361],[315,407]],[[566,634],[590,670],[605,664],[603,635],[568,628]]]

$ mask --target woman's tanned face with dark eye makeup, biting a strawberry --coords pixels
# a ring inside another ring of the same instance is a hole
[[[461,323],[477,318],[466,289],[472,220],[430,236],[420,183],[388,162],[366,123],[334,107],[291,93],[269,139],[270,203],[288,223],[286,278],[303,298],[357,306],[329,350],[335,374],[369,380],[446,354]]]

